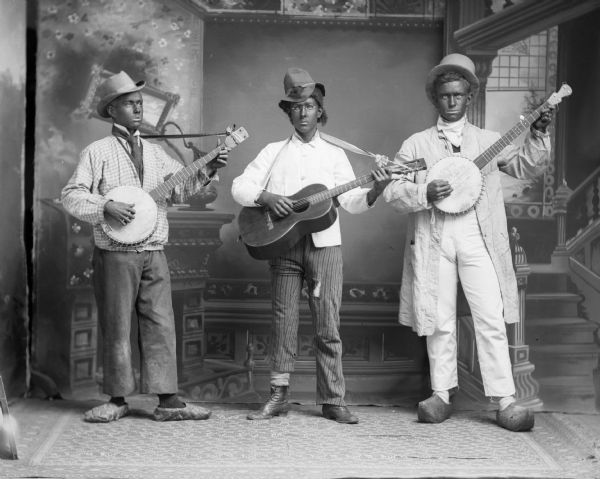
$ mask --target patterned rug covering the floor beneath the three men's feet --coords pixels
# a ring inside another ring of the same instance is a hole
[[[539,413],[532,432],[511,433],[491,412],[433,425],[410,408],[354,407],[360,424],[348,426],[316,406],[257,422],[245,419],[247,405],[210,405],[208,421],[157,423],[140,397],[120,421],[83,422],[96,404],[13,404],[19,460],[0,460],[0,477],[600,478],[600,415]]]

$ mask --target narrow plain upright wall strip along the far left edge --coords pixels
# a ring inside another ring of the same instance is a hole
[[[25,2],[1,0],[0,10],[0,376],[8,396],[26,389],[25,265]]]

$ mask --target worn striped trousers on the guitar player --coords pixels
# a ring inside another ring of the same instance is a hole
[[[269,261],[273,301],[271,369],[292,372],[298,348],[300,299],[304,281],[313,320],[317,364],[317,404],[345,406],[340,305],[342,250],[316,248],[305,236],[285,255]]]

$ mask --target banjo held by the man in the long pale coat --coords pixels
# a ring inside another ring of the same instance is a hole
[[[542,109],[559,104],[571,93],[571,87],[566,83],[563,84],[558,92],[550,95],[533,112],[522,116],[512,129],[473,161],[461,156],[447,156],[431,166],[426,176],[426,183],[433,180],[446,180],[452,186],[452,193],[449,196],[434,202],[435,209],[451,215],[460,215],[473,209],[484,190],[484,177],[481,173],[483,167],[529,128],[540,117]]]

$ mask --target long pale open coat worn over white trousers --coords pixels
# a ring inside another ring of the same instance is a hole
[[[474,160],[499,138],[498,133],[482,130],[467,122],[463,130],[460,156]],[[395,161],[402,163],[423,158],[427,166],[431,167],[447,156],[452,156],[452,146],[434,126],[409,137],[402,144]],[[499,170],[500,158],[507,163]],[[548,135],[528,132],[521,148],[508,146],[482,170],[485,189],[475,211],[483,240],[498,275],[504,319],[507,323],[519,321],[519,304],[500,171],[515,178],[532,178],[543,172],[549,159]],[[399,321],[411,326],[420,336],[432,334],[437,321],[440,245],[444,228],[444,215],[433,210],[427,203],[426,175],[427,170],[417,172],[412,178],[395,180],[383,193],[385,200],[395,209],[409,214]]]

